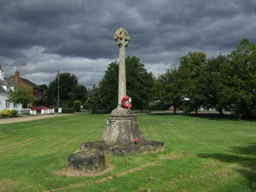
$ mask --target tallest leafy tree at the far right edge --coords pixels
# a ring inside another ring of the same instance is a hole
[[[244,38],[221,66],[218,95],[222,107],[239,114],[255,113],[256,44]]]

